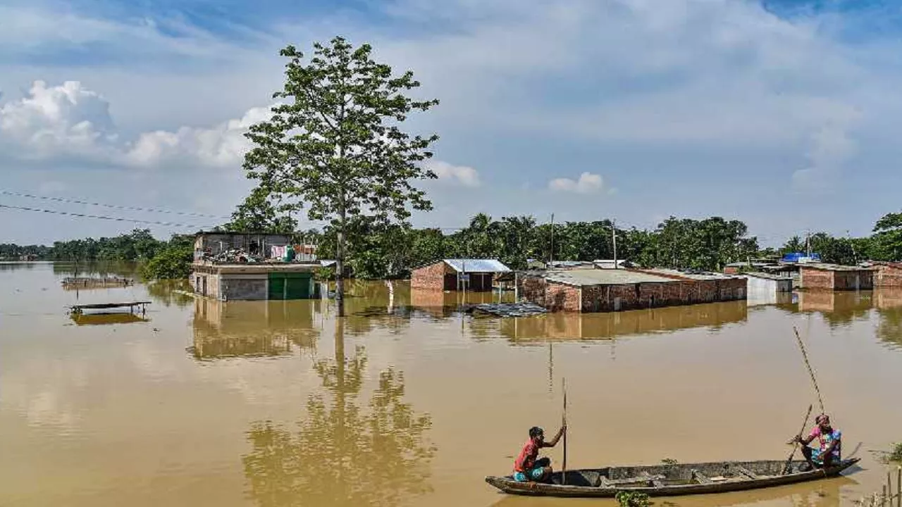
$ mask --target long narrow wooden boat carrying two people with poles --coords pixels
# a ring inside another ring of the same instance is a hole
[[[844,459],[826,468],[803,471],[805,461],[794,461],[783,474],[782,461],[727,461],[657,466],[610,466],[567,470],[562,483],[560,472],[550,484],[518,483],[511,475],[485,477],[485,482],[509,494],[564,497],[612,497],[621,491],[649,496],[727,493],[804,483],[835,477],[858,463],[858,457]]]

